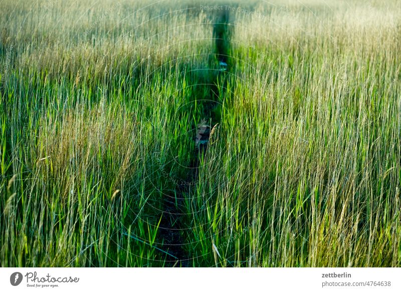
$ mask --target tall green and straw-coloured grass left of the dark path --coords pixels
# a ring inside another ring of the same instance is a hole
[[[171,3],[3,5],[2,265],[164,265],[163,172],[191,142],[174,110],[209,21]]]

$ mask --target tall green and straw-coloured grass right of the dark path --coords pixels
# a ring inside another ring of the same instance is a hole
[[[189,210],[205,265],[399,266],[401,31],[386,4],[237,13],[236,78]]]

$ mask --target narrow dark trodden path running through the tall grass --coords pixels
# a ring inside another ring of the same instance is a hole
[[[202,122],[196,125],[195,136],[188,136],[188,139],[195,141],[195,150],[192,153],[191,161],[187,168],[187,174],[183,186],[176,186],[175,191],[170,195],[164,196],[163,214],[159,225],[159,242],[163,242],[162,249],[169,255],[166,257],[166,266],[188,267],[192,266],[191,252],[185,249],[187,241],[183,236],[183,230],[188,228],[184,203],[187,194],[193,191],[193,186],[198,181],[198,168],[200,159],[205,155],[208,149],[208,142],[211,129],[219,122],[214,114],[214,108],[219,100],[219,92],[222,92],[225,86],[224,76],[227,74],[229,66],[230,44],[229,35],[229,12],[222,11],[216,18],[214,24],[214,54],[216,56],[218,74],[213,74],[213,79],[208,84],[203,84],[202,90],[209,92],[208,100],[201,100],[198,106],[202,107]],[[213,68],[211,68],[213,69]],[[213,69],[214,70],[214,69]],[[214,71],[216,72],[216,71]],[[223,80],[223,84],[218,85],[218,81]],[[220,87],[220,88],[219,88]],[[220,90],[219,90],[220,89]],[[201,90],[197,88],[197,90]]]

